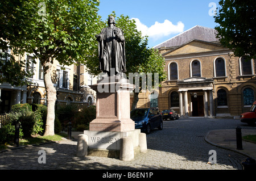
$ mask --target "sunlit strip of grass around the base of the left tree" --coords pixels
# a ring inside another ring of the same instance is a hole
[[[19,145],[39,145],[44,142],[61,141],[63,137],[67,137],[67,134],[58,133],[53,136],[31,136],[24,139],[19,139]],[[13,145],[13,142],[0,144],[0,150],[7,149],[8,145]]]

